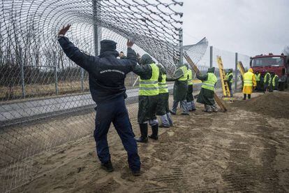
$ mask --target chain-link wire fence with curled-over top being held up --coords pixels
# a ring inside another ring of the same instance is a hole
[[[88,74],[57,43],[57,31],[64,24],[72,24],[68,38],[90,55],[97,55],[103,39],[116,41],[117,50],[126,55],[126,38],[131,38],[133,49],[151,55],[169,76],[182,49],[204,73],[209,66],[217,66],[216,55],[223,57],[225,67],[235,65],[235,52],[214,48],[211,53],[205,38],[181,46],[181,13],[175,11],[179,6],[182,3],[175,0],[1,1],[0,192],[37,178],[40,162],[35,156],[39,152],[49,152],[94,130],[95,103],[89,94]],[[238,56],[247,64],[249,57]],[[136,79],[128,73],[125,80],[133,125],[138,112]]]

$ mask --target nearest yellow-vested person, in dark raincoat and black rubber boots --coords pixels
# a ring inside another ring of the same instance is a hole
[[[152,130],[149,138],[158,140],[156,108],[158,105],[158,78],[160,72],[153,59],[147,54],[142,55],[140,64],[133,69],[133,72],[140,76],[138,123],[140,124],[141,136],[135,140],[139,143],[147,143],[147,121],[149,121]]]

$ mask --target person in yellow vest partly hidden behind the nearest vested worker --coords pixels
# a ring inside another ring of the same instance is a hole
[[[158,64],[158,69],[160,70],[161,76],[158,78],[158,106],[156,108],[156,115],[161,116],[161,124],[159,127],[172,127],[172,116],[170,115],[169,108],[169,92],[167,85],[167,75],[165,68]]]

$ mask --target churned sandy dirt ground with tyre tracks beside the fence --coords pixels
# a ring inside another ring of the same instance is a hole
[[[114,172],[100,169],[88,136],[34,157],[38,176],[13,192],[289,192],[289,92],[235,96],[228,113],[198,104],[190,116],[174,116],[158,141],[138,144],[140,177],[110,129]]]

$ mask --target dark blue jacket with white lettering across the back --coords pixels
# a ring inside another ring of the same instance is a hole
[[[66,37],[60,37],[58,41],[67,57],[89,73],[89,90],[96,103],[118,96],[126,97],[124,78],[137,64],[133,49],[128,48],[126,59],[117,59],[119,53],[116,50],[105,51],[95,57],[81,52]]]

